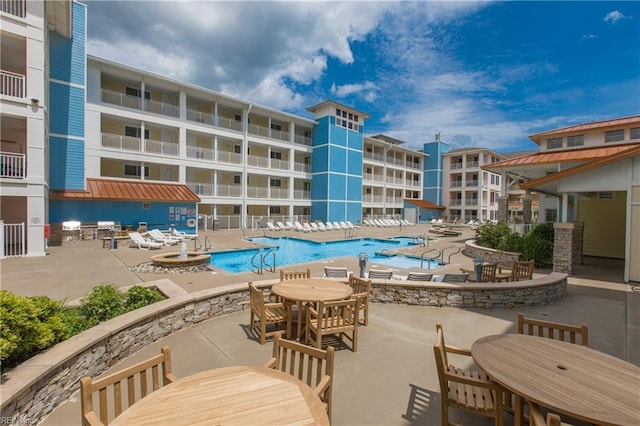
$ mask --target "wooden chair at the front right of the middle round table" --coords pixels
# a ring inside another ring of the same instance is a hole
[[[319,302],[317,309],[307,306],[306,342],[313,342],[315,347],[321,349],[323,336],[338,335],[341,341],[346,336],[351,341],[351,350],[357,352],[359,312],[359,298]]]

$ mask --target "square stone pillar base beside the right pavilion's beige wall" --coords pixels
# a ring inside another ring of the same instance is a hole
[[[553,271],[571,275],[582,263],[583,223],[554,223]]]

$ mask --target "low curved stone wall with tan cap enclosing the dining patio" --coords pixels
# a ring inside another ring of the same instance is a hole
[[[557,300],[566,294],[566,288],[567,275],[562,273],[515,283],[389,280],[374,282],[372,301],[434,307],[517,308]],[[241,311],[248,302],[246,284],[190,294],[177,292],[168,300],[73,336],[2,375],[3,422],[37,424],[78,390],[82,377],[95,377],[152,342],[199,322]]]

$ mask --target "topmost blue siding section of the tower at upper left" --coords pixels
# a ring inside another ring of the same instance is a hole
[[[50,76],[84,86],[86,79],[86,6],[73,2],[73,34],[49,31]]]

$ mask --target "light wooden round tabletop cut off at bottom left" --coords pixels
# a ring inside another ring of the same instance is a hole
[[[320,398],[295,377],[264,367],[203,371],[162,387],[114,419],[118,425],[328,425]]]

